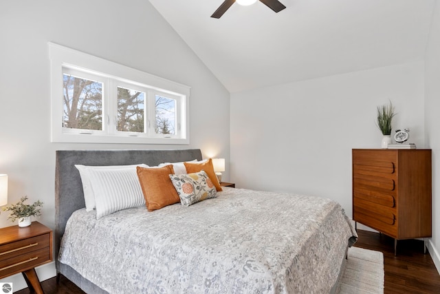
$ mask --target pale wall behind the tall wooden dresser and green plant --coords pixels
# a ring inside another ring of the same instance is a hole
[[[423,61],[231,94],[236,187],[331,198],[351,216],[351,149],[380,148],[376,107],[424,147]]]

